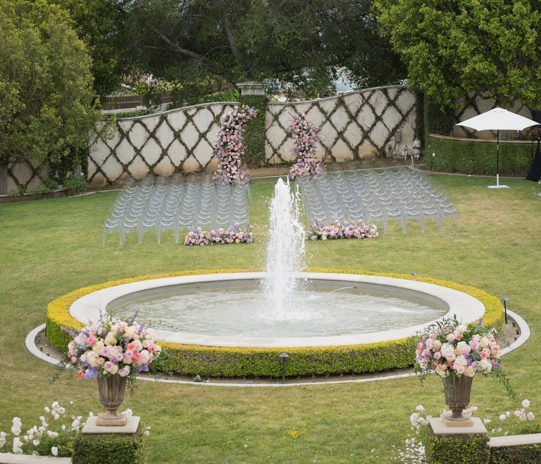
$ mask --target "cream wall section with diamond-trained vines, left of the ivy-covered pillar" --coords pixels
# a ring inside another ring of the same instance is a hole
[[[114,183],[147,173],[214,169],[216,133],[220,118],[235,103],[212,103],[123,118],[112,139],[97,137],[90,148],[88,179],[91,184]]]

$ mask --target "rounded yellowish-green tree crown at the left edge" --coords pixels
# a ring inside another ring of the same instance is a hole
[[[0,163],[58,162],[87,148],[100,110],[67,12],[45,0],[3,0],[0,43]]]

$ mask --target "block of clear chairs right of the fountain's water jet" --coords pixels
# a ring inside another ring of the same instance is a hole
[[[357,163],[342,163],[324,170],[318,178],[298,178],[308,224],[334,221],[378,222],[384,233],[396,221],[404,234],[409,221],[434,220],[443,230],[446,217],[460,228],[458,209],[439,184],[419,170],[403,166],[359,169]]]

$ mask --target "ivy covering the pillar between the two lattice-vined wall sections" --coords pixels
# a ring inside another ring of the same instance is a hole
[[[249,168],[260,167],[265,164],[265,112],[269,99],[266,95],[241,95],[239,101],[258,112],[246,125],[242,140],[246,145],[243,161]]]

